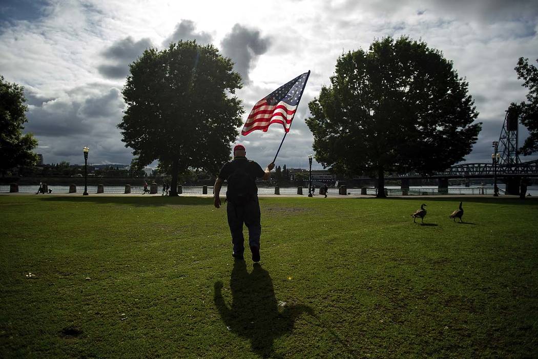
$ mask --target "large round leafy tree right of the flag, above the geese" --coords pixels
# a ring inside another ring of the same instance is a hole
[[[331,85],[309,103],[316,160],[338,173],[445,170],[471,151],[481,124],[452,62],[407,37],[338,58]],[[384,191],[378,191],[384,197]]]

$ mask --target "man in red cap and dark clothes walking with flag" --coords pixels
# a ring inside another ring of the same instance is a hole
[[[221,207],[220,192],[222,182],[228,180],[226,200],[228,206],[228,226],[232,235],[233,253],[236,259],[243,259],[244,237],[243,223],[249,229],[249,246],[252,252],[252,261],[260,261],[260,205],[258,203],[258,187],[256,179],[267,180],[270,178],[274,163],[270,163],[261,169],[260,165],[246,158],[243,145],[233,147],[233,160],[222,166],[214,186],[214,204]]]

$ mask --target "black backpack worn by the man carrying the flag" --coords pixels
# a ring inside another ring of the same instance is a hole
[[[256,195],[254,179],[249,173],[250,160],[240,160],[232,163],[235,167],[228,177],[226,199],[236,205],[243,206],[252,201]]]

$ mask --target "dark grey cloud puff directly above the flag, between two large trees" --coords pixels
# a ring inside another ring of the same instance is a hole
[[[248,83],[249,71],[259,55],[267,52],[271,41],[262,38],[258,30],[247,29],[235,24],[232,31],[221,42],[222,53],[235,62],[235,71],[243,77],[243,82]]]

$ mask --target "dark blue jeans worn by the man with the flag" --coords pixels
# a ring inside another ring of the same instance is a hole
[[[245,251],[245,239],[243,237],[243,223],[249,229],[249,245],[250,247],[260,248],[260,205],[258,197],[243,206],[238,206],[233,202],[228,201],[226,207],[228,213],[228,226],[232,234],[233,253],[243,255]]]

